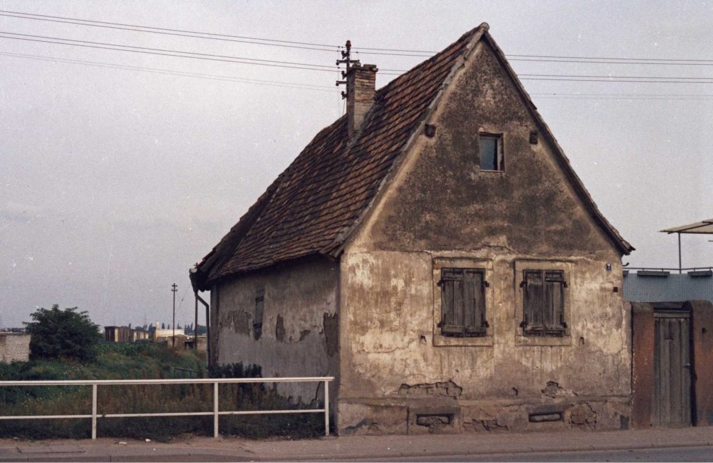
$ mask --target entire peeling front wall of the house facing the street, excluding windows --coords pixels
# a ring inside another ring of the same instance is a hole
[[[342,255],[340,431],[626,427],[621,255],[553,147],[530,143],[540,128],[486,44],[429,123],[436,136],[419,136]],[[480,171],[478,131],[503,134],[504,172]],[[448,259],[482,264],[490,280],[488,336],[470,345],[434,339],[434,275]],[[565,337],[518,337],[528,263],[568,269]]]

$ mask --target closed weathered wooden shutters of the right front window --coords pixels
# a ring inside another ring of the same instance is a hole
[[[563,336],[565,322],[565,273],[562,270],[524,270],[523,335]]]

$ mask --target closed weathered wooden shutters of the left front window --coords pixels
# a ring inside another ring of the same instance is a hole
[[[441,335],[453,337],[485,336],[485,271],[474,268],[441,269]]]

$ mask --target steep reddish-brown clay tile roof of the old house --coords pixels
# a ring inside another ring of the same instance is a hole
[[[339,250],[451,73],[487,30],[481,24],[376,91],[352,143],[346,116],[317,133],[191,271],[196,289],[207,290],[235,273]]]

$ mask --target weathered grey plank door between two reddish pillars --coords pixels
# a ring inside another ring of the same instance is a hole
[[[691,424],[690,314],[681,310],[655,312],[654,392],[651,423]]]

